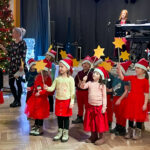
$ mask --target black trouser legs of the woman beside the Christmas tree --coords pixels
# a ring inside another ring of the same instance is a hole
[[[17,89],[15,87],[15,80],[16,80]],[[12,92],[12,94],[14,96],[15,102],[19,102],[20,103],[21,94],[22,94],[21,81],[15,79],[15,78],[10,78],[9,79],[9,86],[10,86],[11,92]]]

